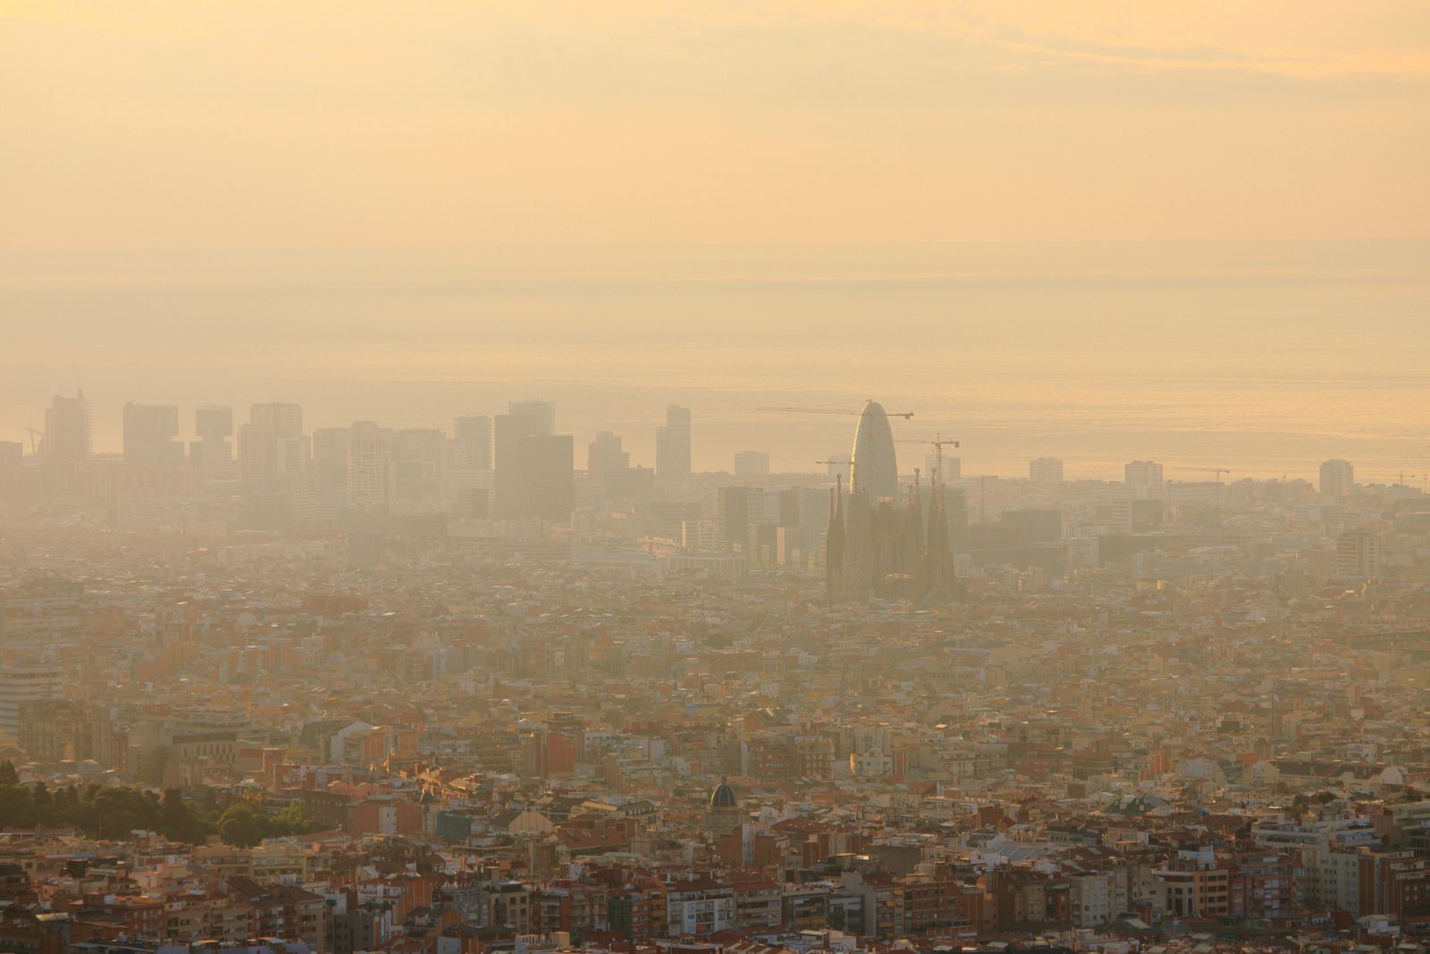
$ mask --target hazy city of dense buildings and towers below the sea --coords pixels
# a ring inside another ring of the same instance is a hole
[[[578,468],[512,400],[96,453],[54,396],[0,443],[4,941],[1419,950],[1414,475],[988,481],[768,410],[848,449],[692,472],[671,405]]]

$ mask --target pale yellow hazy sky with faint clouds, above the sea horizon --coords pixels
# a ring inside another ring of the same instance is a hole
[[[0,0],[0,249],[1426,237],[1427,120],[1423,0]]]

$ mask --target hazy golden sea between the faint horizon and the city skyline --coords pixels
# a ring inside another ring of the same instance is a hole
[[[0,253],[0,441],[83,389],[96,451],[124,402],[307,428],[450,428],[558,402],[654,463],[689,406],[696,469],[766,451],[822,471],[854,415],[962,473],[1430,476],[1430,242],[1101,242]],[[814,410],[761,410],[762,406]]]

